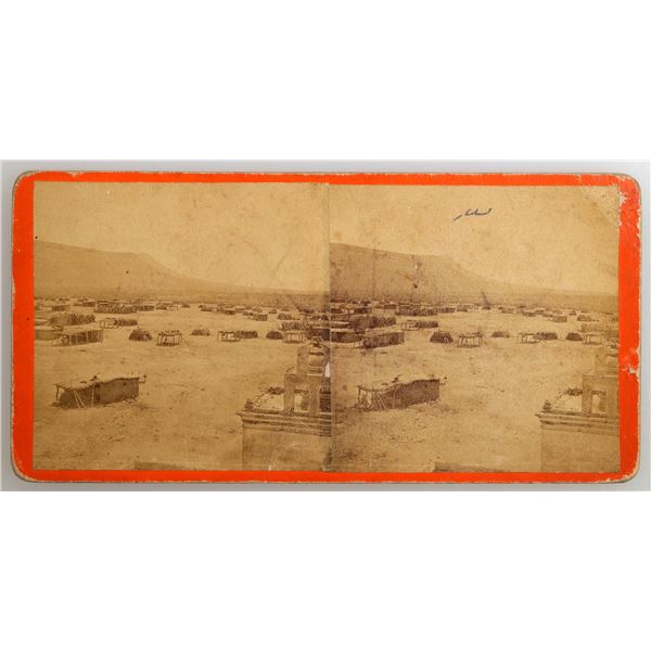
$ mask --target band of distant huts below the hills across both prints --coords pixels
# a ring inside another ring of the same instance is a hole
[[[91,308],[92,314],[75,311],[75,307]],[[50,340],[62,345],[92,343],[102,341],[99,329],[135,327],[130,337],[133,341],[151,341],[152,333],[138,328],[135,316],[139,311],[154,309],[175,310],[189,307],[187,303],[171,301],[124,301],[93,299],[81,297],[72,299],[62,297],[56,301],[37,302],[36,339]],[[494,309],[500,314],[520,314],[531,318],[546,319],[554,323],[566,323],[569,319],[576,321],[576,331],[565,335],[567,341],[579,341],[586,344],[612,342],[617,339],[616,318],[612,315],[595,316],[575,309],[548,309],[545,307],[527,307],[524,305],[492,306],[487,303],[416,303],[392,301],[337,301],[330,303],[328,310],[301,309],[295,306],[269,307],[264,305],[246,306],[227,303],[202,304],[202,311],[222,315],[241,316],[257,322],[268,322],[273,318],[275,328],[266,333],[270,340],[285,343],[305,343],[314,337],[331,341],[335,344],[349,344],[365,348],[399,345],[405,342],[405,331],[433,330],[432,343],[454,343],[460,347],[478,347],[484,343],[484,335],[476,332],[462,332],[452,336],[451,332],[441,330],[435,315],[456,311],[473,311]],[[95,315],[104,316],[95,320]],[[119,315],[119,316],[113,316]],[[129,315],[129,316],[126,316]],[[99,326],[99,328],[98,328]],[[71,328],[74,328],[71,330]],[[401,331],[401,332],[400,332]],[[66,334],[67,336],[63,336]],[[208,328],[199,327],[192,332],[194,336],[209,336]],[[253,336],[256,330],[226,329],[215,333],[219,341],[239,342]],[[507,330],[495,330],[492,337],[511,336]],[[178,345],[182,337],[178,335],[156,336],[161,345]],[[518,333],[518,342],[539,343],[558,339],[551,330],[539,328]]]

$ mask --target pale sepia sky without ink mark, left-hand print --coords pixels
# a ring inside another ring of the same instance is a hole
[[[314,183],[38,181],[34,221],[39,240],[146,253],[192,278],[328,291],[327,210]]]

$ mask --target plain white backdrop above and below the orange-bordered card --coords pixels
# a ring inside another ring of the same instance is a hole
[[[644,1],[0,7],[3,158],[651,150]],[[649,492],[4,492],[0,640],[646,648],[649,522]]]

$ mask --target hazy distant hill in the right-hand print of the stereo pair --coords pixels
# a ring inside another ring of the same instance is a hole
[[[340,298],[488,302],[616,310],[616,296],[511,285],[477,276],[447,256],[330,245],[330,290]]]

